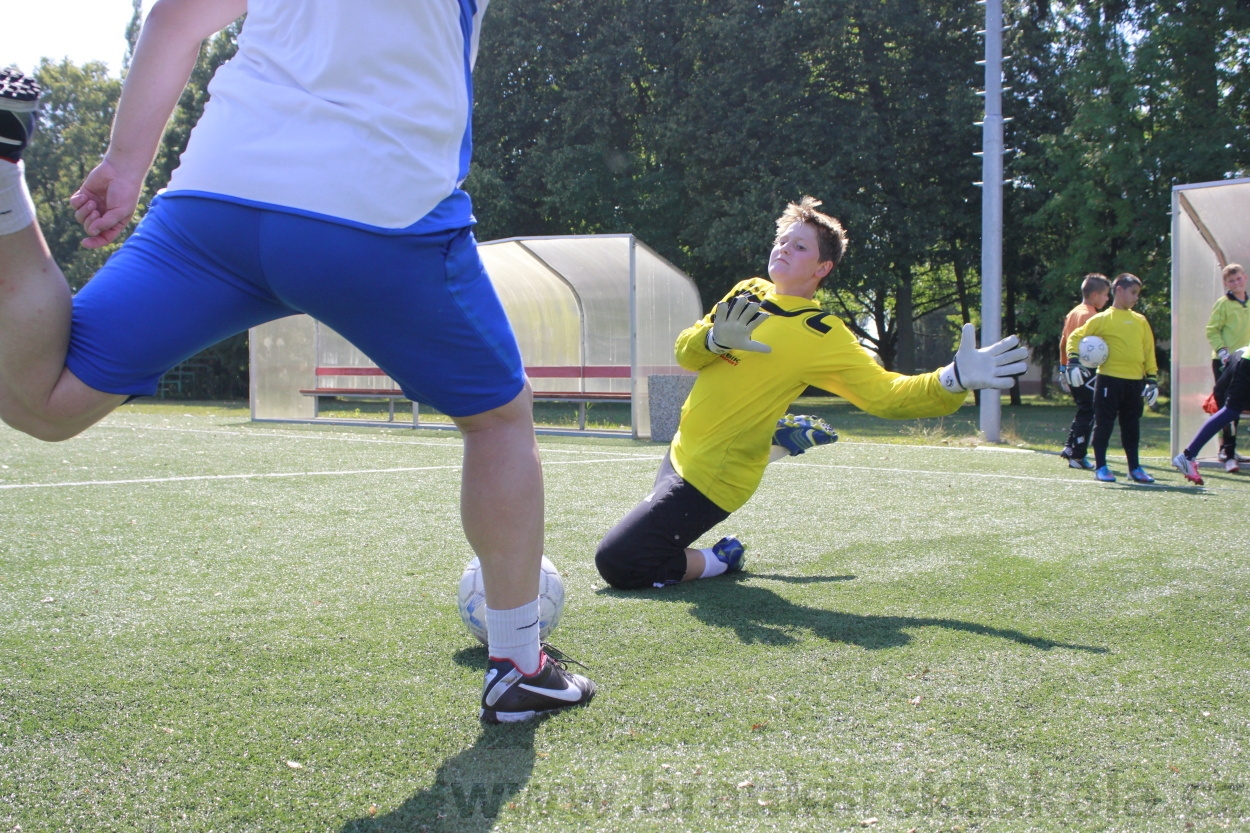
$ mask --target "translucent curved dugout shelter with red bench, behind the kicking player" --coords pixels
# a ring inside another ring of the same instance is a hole
[[[650,439],[648,378],[688,373],[672,346],[702,315],[694,281],[630,234],[509,238],[479,253],[535,400],[576,404],[580,430],[588,405],[629,403],[629,434]],[[250,358],[254,420],[355,422],[322,416],[326,398],[389,399],[394,420],[404,400],[369,356],[308,315],[252,328]],[[411,424],[434,427],[419,423],[416,404]]]

